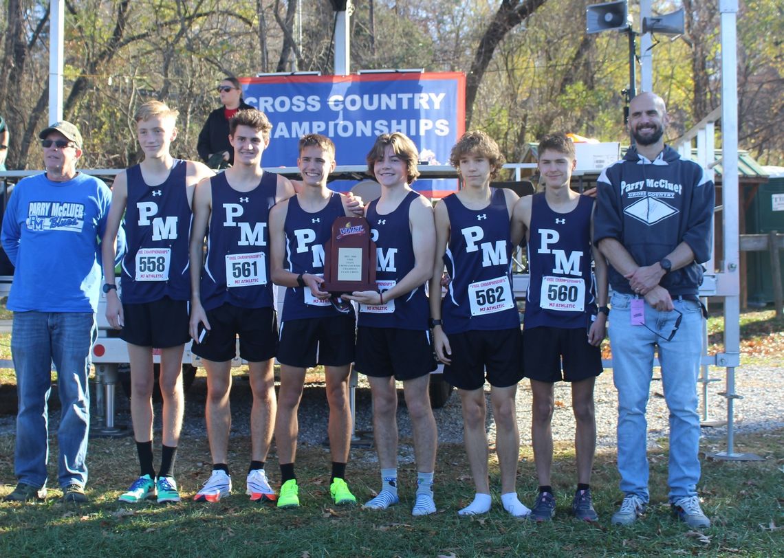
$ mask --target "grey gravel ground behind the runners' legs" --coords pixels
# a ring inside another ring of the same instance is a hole
[[[743,398],[735,400],[735,433],[750,433],[764,429],[784,427],[784,411],[781,408],[784,386],[781,382],[771,382],[771,379],[780,378],[784,368],[767,367],[742,367],[735,373],[735,390]],[[702,415],[702,395],[700,397],[699,412],[701,417],[708,422],[727,420],[727,400],[719,395],[725,390],[724,369],[712,372],[713,377],[720,379],[718,382],[708,384],[708,412]],[[316,382],[307,384],[303,402],[299,409],[299,443],[321,444],[326,439],[326,418],[328,408],[323,390],[323,383],[318,382],[318,375],[310,375],[317,379]],[[702,386],[699,386],[702,393]],[[412,436],[411,422],[403,402],[402,390],[398,390],[401,404],[397,410],[397,419],[401,439]],[[495,422],[492,420],[492,411],[487,390],[488,407],[488,434],[492,440],[495,437]],[[186,417],[183,427],[185,437],[204,437],[205,420],[204,405],[206,397],[206,380],[201,375],[197,377],[194,385],[186,394]],[[56,394],[53,393],[53,400]],[[612,370],[607,370],[597,379],[595,390],[596,418],[597,418],[597,447],[615,447],[615,426],[617,421],[615,387],[612,385]],[[569,386],[561,383],[555,388],[556,409],[553,418],[553,435],[555,440],[568,441],[574,439],[575,422],[572,415],[571,391]],[[250,386],[243,377],[235,379],[234,389],[231,394],[232,402],[232,434],[249,435],[249,409]],[[364,440],[369,440],[372,433],[372,417],[370,390],[360,376],[356,390],[356,424],[357,431]],[[521,444],[531,444],[531,390],[527,380],[523,380],[517,390],[517,423],[520,428]],[[117,422],[130,424],[128,400],[118,390],[117,397]],[[156,411],[160,415],[157,406]],[[435,409],[434,414],[438,425],[438,439],[445,444],[459,444],[463,441],[463,422],[461,417],[460,400],[456,392],[443,408]],[[50,427],[56,429],[59,412],[52,413]],[[668,433],[667,410],[662,396],[660,381],[654,380],[651,387],[651,398],[648,403],[648,444],[653,446],[657,440],[666,437]],[[0,434],[14,432],[13,416],[0,416]],[[706,426],[702,429],[703,437],[720,439],[727,436],[726,426]],[[401,448],[405,455],[411,452],[406,447]]]

